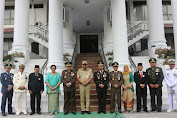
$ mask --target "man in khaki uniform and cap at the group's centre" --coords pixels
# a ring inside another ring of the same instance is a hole
[[[90,106],[90,82],[93,78],[92,69],[87,68],[87,61],[82,62],[82,68],[77,72],[77,79],[80,82],[80,103],[81,103],[81,114],[87,113],[91,114],[89,111]],[[85,106],[85,97],[86,97],[86,106]]]

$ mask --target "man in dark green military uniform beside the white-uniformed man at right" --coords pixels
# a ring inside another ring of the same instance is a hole
[[[150,68],[146,70],[149,79],[149,89],[151,96],[151,111],[157,110],[161,112],[162,107],[162,81],[164,79],[162,69],[156,67],[156,59],[151,58],[149,60]],[[157,104],[155,103],[155,97],[157,97]]]

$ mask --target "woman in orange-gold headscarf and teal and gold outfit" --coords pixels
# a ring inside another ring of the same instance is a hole
[[[133,89],[134,77],[127,65],[124,66],[123,78],[124,83],[122,84],[123,88],[122,100],[124,101],[124,108],[126,112],[132,113],[134,105],[134,89]]]

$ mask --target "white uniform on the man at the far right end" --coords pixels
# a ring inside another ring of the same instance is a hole
[[[167,69],[164,78],[169,96],[169,111],[173,111],[173,95],[177,100],[177,69]]]

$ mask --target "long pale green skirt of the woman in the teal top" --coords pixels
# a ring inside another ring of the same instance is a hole
[[[59,112],[59,93],[48,93],[48,111]]]

